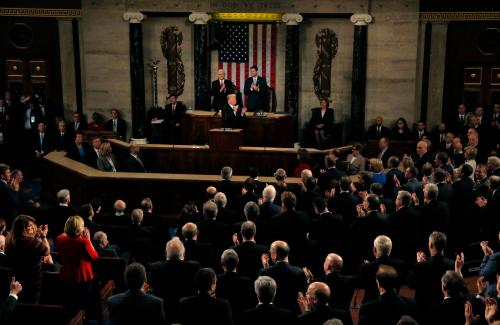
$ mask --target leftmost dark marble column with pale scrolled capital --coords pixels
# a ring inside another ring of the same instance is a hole
[[[130,41],[130,92],[132,98],[132,137],[144,138],[146,126],[146,100],[144,89],[144,57],[142,53],[142,25],[145,15],[126,12],[123,19],[129,22]]]

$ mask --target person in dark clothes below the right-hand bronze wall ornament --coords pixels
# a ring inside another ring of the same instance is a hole
[[[318,148],[324,148],[325,141],[331,137],[333,133],[335,115],[333,108],[328,107],[328,99],[321,98],[319,103],[320,107],[312,109],[311,119],[309,120],[309,128],[313,132],[316,146]]]

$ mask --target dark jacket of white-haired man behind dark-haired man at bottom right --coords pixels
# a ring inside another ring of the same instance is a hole
[[[392,266],[398,272],[398,283],[401,284],[403,279],[406,278],[404,262],[396,260],[390,256],[380,256],[379,258],[367,264],[361,265],[361,268],[356,277],[356,286],[365,289],[365,296],[363,303],[377,299],[380,295],[378,291],[375,275],[377,274],[380,265]]]

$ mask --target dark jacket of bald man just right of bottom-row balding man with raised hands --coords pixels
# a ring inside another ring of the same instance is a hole
[[[330,288],[330,306],[342,310],[351,308],[352,295],[354,294],[354,277],[342,275],[340,272],[332,272],[319,278]]]

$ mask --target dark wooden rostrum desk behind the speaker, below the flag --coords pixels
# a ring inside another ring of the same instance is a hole
[[[208,131],[222,126],[221,114],[187,111],[184,115],[182,139],[186,144],[207,144]],[[252,147],[293,147],[293,120],[288,114],[246,114],[243,144]]]

